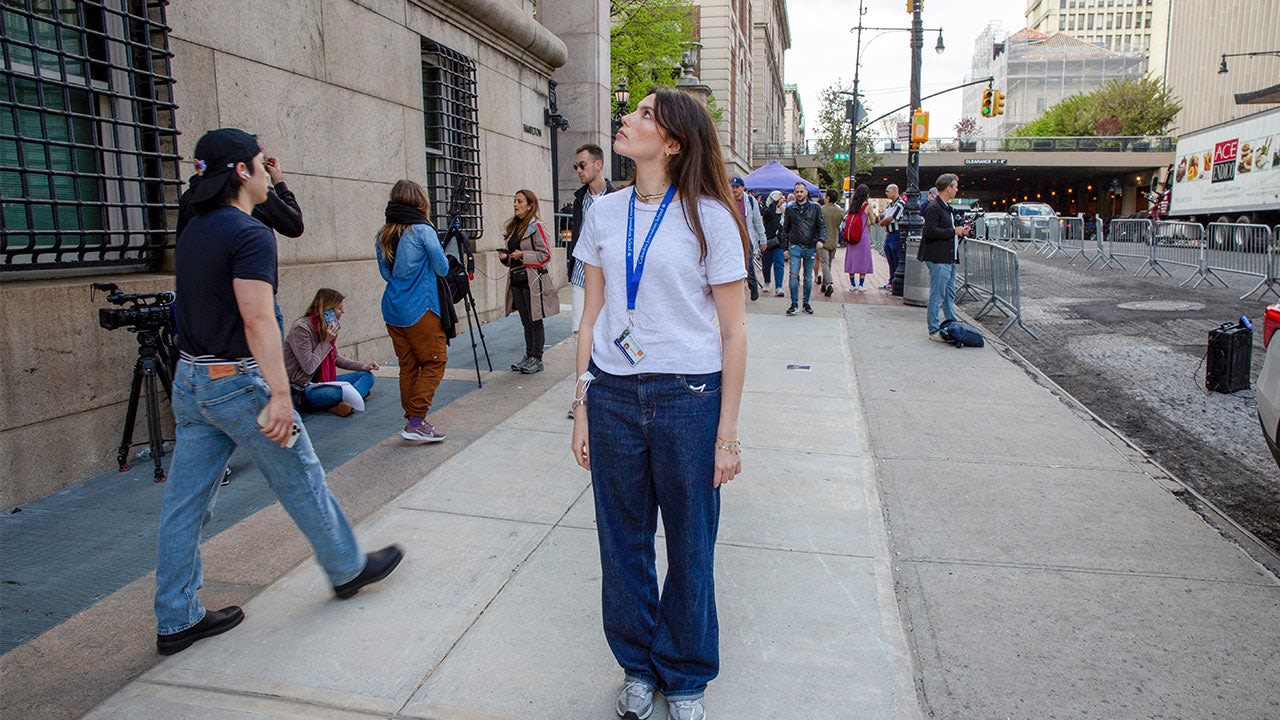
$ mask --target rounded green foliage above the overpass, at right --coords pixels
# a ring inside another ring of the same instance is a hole
[[[1018,137],[1162,135],[1181,109],[1169,87],[1153,78],[1111,81],[1073,95],[1016,131]]]

